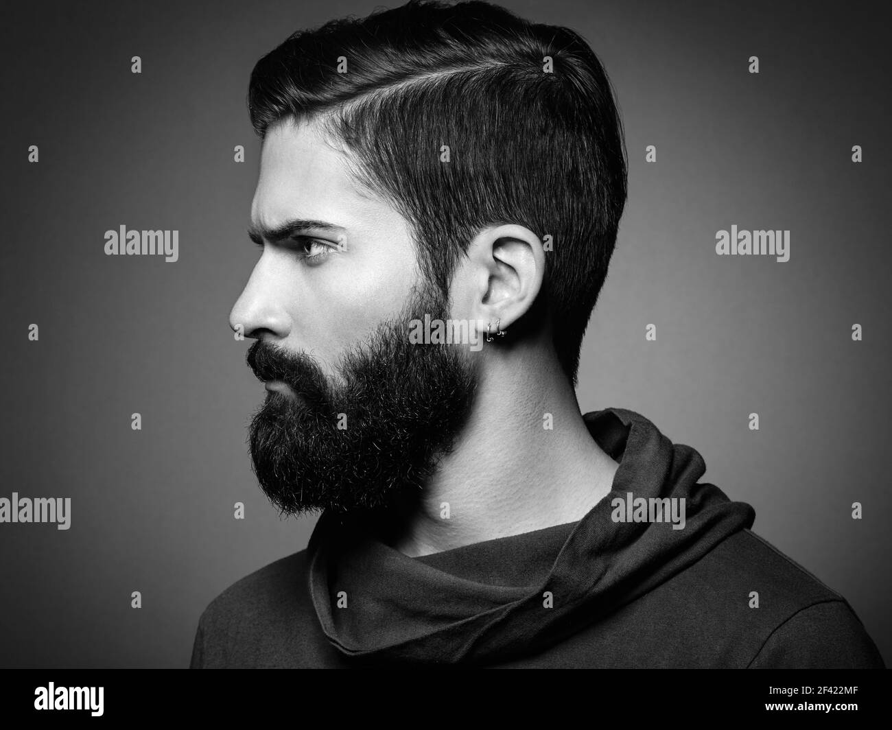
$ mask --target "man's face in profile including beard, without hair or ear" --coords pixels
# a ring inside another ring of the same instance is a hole
[[[248,364],[268,390],[253,469],[287,513],[417,494],[476,385],[460,348],[409,343],[409,322],[448,319],[448,303],[421,277],[407,221],[360,192],[345,162],[316,123],[268,130],[252,203],[263,253],[230,314],[257,338]]]

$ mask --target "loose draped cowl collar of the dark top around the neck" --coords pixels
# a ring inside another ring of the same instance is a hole
[[[486,664],[534,654],[752,527],[752,507],[698,484],[706,464],[690,446],[634,411],[583,418],[619,468],[612,491],[577,522],[409,557],[323,513],[307,551],[310,596],[329,642],[358,663]],[[635,500],[665,497],[683,513],[635,520],[645,514]]]

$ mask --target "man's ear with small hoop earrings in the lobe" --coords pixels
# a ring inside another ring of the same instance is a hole
[[[467,248],[454,282],[453,302],[467,319],[501,329],[524,316],[535,302],[545,276],[545,251],[539,236],[524,226],[504,224],[484,228]]]

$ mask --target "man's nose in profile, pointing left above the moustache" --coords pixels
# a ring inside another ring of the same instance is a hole
[[[242,295],[229,312],[229,327],[236,333],[241,328],[244,336],[255,339],[264,335],[285,339],[291,330],[286,307],[288,294],[281,267],[276,267],[273,257],[264,252],[254,266]]]

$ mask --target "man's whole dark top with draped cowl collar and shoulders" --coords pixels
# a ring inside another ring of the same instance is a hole
[[[847,601],[699,482],[698,452],[633,411],[583,418],[619,467],[579,521],[409,557],[323,513],[211,601],[190,666],[884,667]]]

